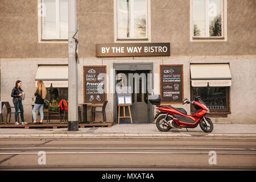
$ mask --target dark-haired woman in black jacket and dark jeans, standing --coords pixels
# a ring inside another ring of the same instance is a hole
[[[17,80],[15,83],[15,87],[11,90],[11,97],[13,97],[13,104],[15,107],[15,125],[19,125],[18,123],[18,113],[20,110],[20,118],[22,119],[22,125],[26,125],[27,122],[24,121],[24,110],[22,105],[22,95],[24,94],[23,90],[20,88],[22,86],[22,81]]]

